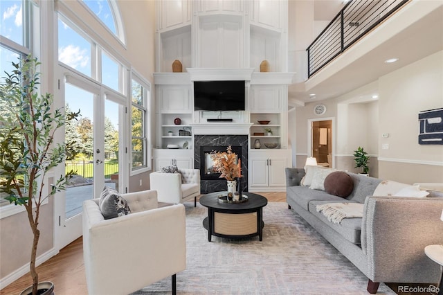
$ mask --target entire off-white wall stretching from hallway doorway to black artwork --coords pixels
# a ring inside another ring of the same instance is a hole
[[[418,144],[419,111],[443,107],[442,64],[440,51],[339,98],[321,101],[327,106],[324,117],[336,117],[336,168],[354,171],[350,154],[363,146],[373,156],[371,176],[406,184],[442,182],[443,145]],[[378,101],[370,102],[377,91]],[[317,103],[296,108],[298,167],[307,154],[307,120],[318,118],[312,113]],[[383,138],[386,133],[389,137]]]

